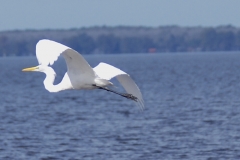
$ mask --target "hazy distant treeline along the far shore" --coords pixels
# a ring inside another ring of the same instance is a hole
[[[35,55],[36,43],[44,38],[61,42],[82,54],[240,50],[240,28],[233,26],[103,26],[0,32],[0,56]]]

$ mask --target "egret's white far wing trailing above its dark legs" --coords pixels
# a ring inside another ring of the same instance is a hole
[[[96,67],[94,67],[93,70],[102,79],[110,80],[116,77],[127,93],[137,97],[138,99],[137,102],[140,108],[144,108],[144,102],[141,91],[136,85],[136,83],[133,81],[133,79],[127,73],[112,65],[102,62],[99,63]]]

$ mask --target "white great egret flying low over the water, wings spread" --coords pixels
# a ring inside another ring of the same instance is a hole
[[[49,65],[62,55],[67,64],[67,72],[62,81],[54,85],[56,73]],[[45,89],[49,92],[59,92],[66,89],[103,89],[125,98],[131,99],[144,108],[141,91],[132,78],[124,71],[106,63],[99,63],[92,68],[77,51],[58,42],[43,39],[36,45],[36,56],[39,65],[25,68],[22,71],[38,71],[46,74],[43,81]],[[108,86],[113,83],[109,80],[116,77],[127,93],[119,93]]]

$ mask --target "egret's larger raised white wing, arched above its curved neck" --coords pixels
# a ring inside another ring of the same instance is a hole
[[[36,56],[41,65],[52,65],[60,55],[65,58],[67,73],[74,88],[78,85],[79,78],[85,78],[86,81],[95,78],[95,73],[88,62],[70,47],[48,39],[40,40],[36,45]]]

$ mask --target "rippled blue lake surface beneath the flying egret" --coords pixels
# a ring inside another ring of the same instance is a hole
[[[49,93],[43,73],[21,72],[35,57],[1,58],[0,159],[240,159],[240,53],[85,57],[129,73],[145,110],[102,90]],[[64,60],[53,67],[57,83]]]

